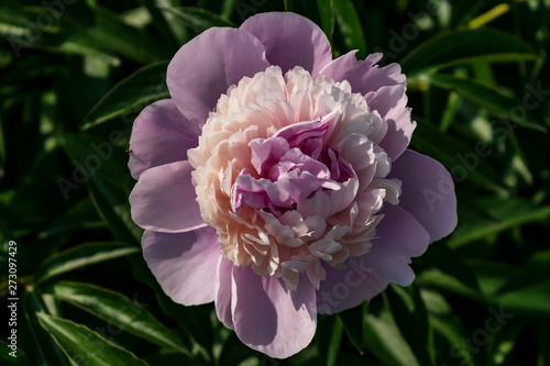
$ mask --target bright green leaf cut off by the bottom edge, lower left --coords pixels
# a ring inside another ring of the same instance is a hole
[[[133,353],[107,342],[85,325],[44,313],[36,315],[41,325],[52,334],[63,352],[76,365],[146,365]]]

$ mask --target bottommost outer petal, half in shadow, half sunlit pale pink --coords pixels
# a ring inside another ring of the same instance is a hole
[[[233,268],[233,323],[239,339],[270,357],[285,358],[305,348],[317,326],[315,288],[301,278],[295,291],[282,279]]]

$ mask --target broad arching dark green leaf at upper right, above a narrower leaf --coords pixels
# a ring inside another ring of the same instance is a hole
[[[399,64],[408,77],[475,62],[509,63],[537,59],[526,42],[491,29],[454,31],[437,35],[413,49]]]

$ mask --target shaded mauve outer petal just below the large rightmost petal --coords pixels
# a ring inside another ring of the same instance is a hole
[[[376,226],[372,248],[361,257],[363,268],[373,275],[408,286],[415,279],[410,258],[428,248],[430,236],[415,218],[398,206],[383,209],[384,219]]]

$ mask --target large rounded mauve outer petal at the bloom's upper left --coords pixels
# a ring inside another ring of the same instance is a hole
[[[201,124],[231,85],[268,66],[264,46],[252,34],[213,27],[176,53],[168,65],[168,89],[182,114]]]

